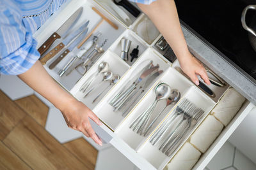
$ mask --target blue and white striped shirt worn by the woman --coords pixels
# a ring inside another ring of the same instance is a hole
[[[35,64],[40,53],[36,50],[37,43],[33,38],[33,33],[65,1],[0,0],[1,74],[22,74]],[[149,4],[155,0],[131,1]]]

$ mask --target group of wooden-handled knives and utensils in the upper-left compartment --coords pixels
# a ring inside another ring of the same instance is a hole
[[[104,39],[102,45],[98,46],[97,41],[101,35],[99,32],[99,34],[97,34],[97,36],[93,36],[90,41],[87,40],[90,38],[90,36],[92,36],[93,32],[97,29],[97,27],[99,27],[100,24],[102,24],[104,20],[106,20],[106,22],[108,22],[108,24],[115,29],[118,29],[118,27],[113,24],[113,22],[102,15],[102,13],[100,13],[100,11],[98,11],[96,8],[92,7],[92,10],[100,15],[102,19],[100,20],[99,24],[97,24],[96,27],[88,34],[88,36],[86,36],[86,34],[88,32],[88,24],[90,21],[87,21],[85,24],[81,25],[81,27],[76,29],[76,31],[70,33],[70,29],[76,25],[77,21],[81,17],[81,14],[83,13],[83,8],[81,7],[76,12],[74,12],[72,16],[68,18],[68,20],[63,25],[61,25],[61,27],[56,32],[54,32],[42,46],[40,46],[40,48],[38,48],[40,55],[43,55],[45,52],[47,52],[47,50],[51,47],[52,43],[54,43],[56,39],[62,39],[61,43],[59,43],[57,46],[52,48],[50,52],[46,53],[43,57],[40,58],[40,62],[42,64],[46,64],[48,60],[52,59],[52,57],[61,52],[61,50],[65,49],[64,52],[62,52],[61,55],[59,55],[49,65],[49,69],[54,69],[54,67],[56,67],[57,64],[59,64],[61,60],[68,55],[68,53],[72,51],[78,51],[77,55],[68,60],[67,64],[65,64],[65,66],[60,69],[60,71],[58,71],[59,76],[63,76],[64,74],[68,76],[68,74],[70,74],[74,69],[79,74],[83,75],[86,73],[88,68],[91,67],[97,61],[97,59],[99,59],[100,53],[104,52],[102,47],[106,44],[108,39]],[[86,44],[83,48],[81,48],[85,42]],[[88,52],[92,47],[93,50],[88,53],[88,55],[86,55],[86,52]],[[81,49],[79,50],[79,48]],[[77,60],[81,60],[82,62],[76,64]]]

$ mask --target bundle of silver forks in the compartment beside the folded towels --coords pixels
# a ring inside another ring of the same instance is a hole
[[[159,141],[163,141],[159,150],[169,157],[203,115],[202,109],[196,107],[188,99],[183,99],[175,112],[164,120],[163,124],[150,137],[150,143],[155,146]],[[168,134],[165,139],[164,134],[166,136]]]

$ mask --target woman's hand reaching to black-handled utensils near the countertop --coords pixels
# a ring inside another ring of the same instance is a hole
[[[199,85],[199,80],[196,75],[199,75],[207,85],[211,85],[203,64],[190,52],[186,57],[180,57],[179,63],[182,71],[184,71],[196,85]]]

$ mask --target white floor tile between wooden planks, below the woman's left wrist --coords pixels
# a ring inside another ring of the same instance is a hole
[[[65,119],[57,108],[49,109],[45,129],[60,143],[66,143],[82,136],[81,132],[67,126]]]

